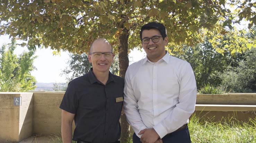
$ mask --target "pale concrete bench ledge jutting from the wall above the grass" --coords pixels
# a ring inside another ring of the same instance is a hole
[[[256,111],[256,105],[196,104],[196,111]]]

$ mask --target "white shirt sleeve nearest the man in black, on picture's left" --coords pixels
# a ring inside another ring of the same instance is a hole
[[[147,127],[143,123],[138,111],[137,99],[134,96],[128,69],[125,75],[123,107],[128,123],[133,127],[135,134],[140,138],[142,135],[138,135],[138,133]]]

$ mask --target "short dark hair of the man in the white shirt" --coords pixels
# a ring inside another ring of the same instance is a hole
[[[165,37],[167,37],[167,30],[166,30],[166,28],[164,27],[164,25],[162,23],[150,22],[150,23],[147,23],[147,24],[145,24],[145,25],[143,25],[141,27],[140,32],[139,32],[140,41],[142,41],[142,31],[143,30],[150,30],[150,29],[157,29],[157,30],[159,30],[159,32],[162,35],[163,39]]]

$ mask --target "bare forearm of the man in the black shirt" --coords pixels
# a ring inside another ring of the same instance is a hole
[[[63,143],[72,142],[72,122],[61,124],[61,137]]]

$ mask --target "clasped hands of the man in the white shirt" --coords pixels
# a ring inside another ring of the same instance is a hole
[[[144,129],[141,130],[138,134],[143,134],[140,137],[140,141],[142,143],[154,143],[159,139],[159,135],[156,133],[155,129]]]

